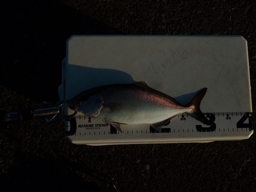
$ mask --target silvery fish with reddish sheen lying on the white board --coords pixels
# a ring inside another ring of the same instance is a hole
[[[200,90],[186,105],[147,86],[146,81],[109,84],[81,92],[69,108],[109,123],[123,133],[121,124],[150,124],[161,132],[170,119],[187,113],[203,124],[211,122],[200,110],[207,88]]]

